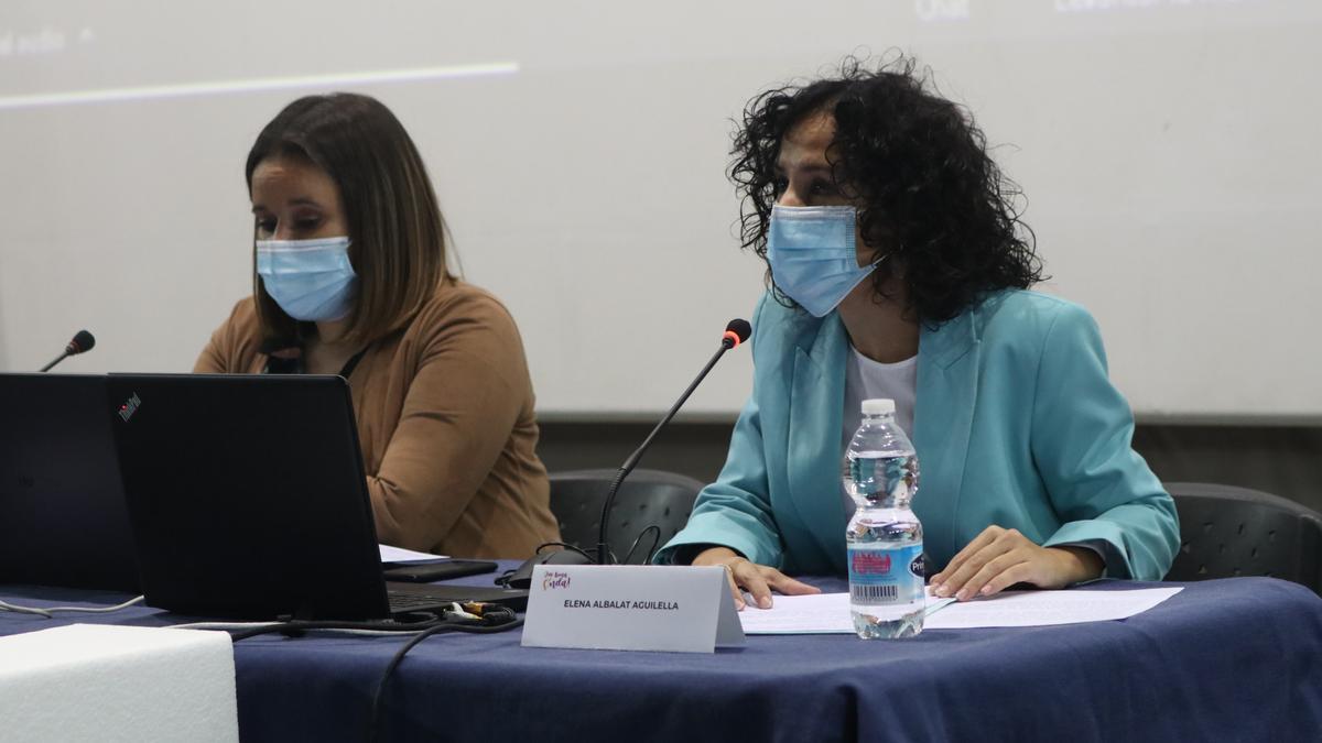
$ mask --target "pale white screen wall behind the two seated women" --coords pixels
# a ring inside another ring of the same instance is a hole
[[[1140,414],[1322,416],[1319,29],[1315,0],[8,0],[0,370],[82,327],[98,348],[63,370],[189,369],[250,290],[254,136],[348,89],[416,139],[543,415],[658,412],[761,291],[730,119],[899,46],[1003,145],[1044,288],[1099,317]],[[750,378],[732,354],[687,410],[732,412]]]

